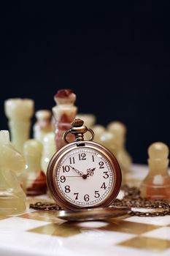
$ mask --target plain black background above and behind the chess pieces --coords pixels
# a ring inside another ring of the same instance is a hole
[[[125,123],[128,151],[145,163],[150,143],[170,146],[169,1],[98,9],[56,2],[1,6],[0,129],[4,99],[28,97],[36,110],[50,109],[56,91],[71,88],[80,112],[99,124]]]

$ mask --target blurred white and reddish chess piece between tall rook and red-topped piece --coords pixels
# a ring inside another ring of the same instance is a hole
[[[53,131],[51,124],[51,112],[50,110],[38,110],[35,113],[36,123],[34,124],[34,139],[39,140],[43,143],[43,138],[48,132]]]

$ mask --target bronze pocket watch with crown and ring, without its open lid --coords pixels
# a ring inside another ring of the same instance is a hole
[[[85,132],[90,132],[90,140],[84,140]],[[67,140],[69,133],[75,136],[74,142]],[[75,119],[63,134],[68,144],[53,155],[47,167],[47,187],[64,210],[109,206],[120,191],[117,159],[93,138],[93,130],[85,127],[81,119]]]

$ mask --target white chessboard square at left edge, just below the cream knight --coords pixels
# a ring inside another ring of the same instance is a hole
[[[2,219],[0,222],[0,230],[4,230],[2,232],[16,232],[29,230],[36,227],[41,227],[43,225],[47,225],[49,222],[43,222],[34,219],[25,219],[20,217],[11,217],[8,219]]]

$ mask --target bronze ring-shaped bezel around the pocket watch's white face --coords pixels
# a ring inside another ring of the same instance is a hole
[[[104,157],[108,159],[114,173],[113,186],[109,192],[109,195],[107,195],[105,200],[102,200],[101,202],[97,203],[95,206],[78,206],[69,202],[68,200],[66,200],[65,197],[61,195],[61,192],[58,189],[58,186],[55,181],[57,166],[61,161],[61,159],[64,157],[64,155],[76,148],[84,148],[84,147],[95,149],[96,151],[103,154]],[[53,155],[47,167],[47,187],[50,190],[50,194],[52,195],[55,202],[58,203],[58,205],[61,206],[64,210],[76,210],[81,208],[96,208],[96,207],[109,206],[115,200],[115,198],[118,195],[118,192],[120,191],[121,181],[122,181],[122,176],[121,176],[120,165],[118,164],[115,156],[101,144],[93,141],[88,141],[88,140],[87,141],[84,140],[81,142],[73,142],[64,146],[63,148],[61,148],[60,151],[56,152]]]

